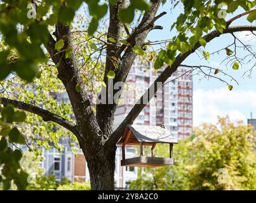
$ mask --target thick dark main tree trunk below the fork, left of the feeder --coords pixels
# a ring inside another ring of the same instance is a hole
[[[91,190],[114,190],[116,147],[91,154],[88,162]]]

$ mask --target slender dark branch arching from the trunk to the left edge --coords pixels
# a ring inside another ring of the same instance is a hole
[[[39,108],[34,105],[30,105],[29,103],[24,103],[22,101],[16,101],[16,100],[10,100],[10,99],[4,98],[4,97],[0,97],[0,103],[3,105],[8,105],[10,103],[15,108],[19,108],[21,110],[25,110],[32,114],[39,115],[40,117],[42,117],[43,121],[56,122],[60,126],[66,128],[69,131],[71,131],[72,133],[74,133],[76,136],[79,135],[75,124],[72,124],[67,119],[64,119],[63,117],[61,117],[57,114],[53,114],[53,113],[49,112],[48,110],[44,110],[43,108]]]

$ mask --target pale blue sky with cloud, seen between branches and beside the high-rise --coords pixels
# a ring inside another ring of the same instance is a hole
[[[159,13],[166,11],[168,14],[161,17],[155,24],[162,25],[163,30],[153,30],[147,37],[150,41],[156,41],[160,39],[171,39],[175,35],[175,31],[170,32],[170,26],[177,19],[177,16],[182,12],[182,7],[175,9],[175,11],[170,11],[170,6],[166,3],[164,6],[161,6]],[[243,13],[243,9],[239,9],[238,13]],[[231,18],[230,15],[226,17],[226,20]],[[250,25],[249,22],[246,22],[246,16],[232,23],[232,25]],[[256,22],[253,22],[253,25],[256,25]],[[252,39],[252,36],[248,36],[248,33],[236,33],[235,34],[243,43],[256,46],[255,37]],[[206,45],[206,51],[212,53],[221,48],[225,48],[229,44],[234,42],[231,34],[226,34],[217,39],[214,39],[212,42]],[[231,48],[234,49],[234,48]],[[255,51],[255,48],[254,48]],[[245,51],[243,49],[238,50],[239,56],[244,56]],[[184,64],[186,65],[209,65],[211,67],[219,67],[219,69],[224,70],[227,74],[231,74],[238,82],[234,82],[226,79],[227,82],[231,82],[234,86],[232,91],[227,89],[226,84],[217,81],[215,79],[210,79],[209,81],[202,78],[202,75],[195,75],[193,77],[193,94],[194,94],[194,104],[193,104],[193,113],[194,113],[194,125],[197,126],[201,122],[217,122],[217,115],[229,115],[233,121],[243,120],[246,122],[246,119],[250,118],[250,112],[252,112],[253,117],[256,118],[256,67],[252,71],[250,77],[247,77],[246,74],[242,77],[243,73],[252,67],[252,63],[244,64],[243,68],[239,70],[232,70],[231,65],[227,67],[225,65],[220,65],[220,62],[226,56],[226,52],[221,51],[219,55],[210,56],[210,59],[206,61],[201,59],[195,53],[189,56],[185,60]],[[255,63],[255,59],[253,61]]]

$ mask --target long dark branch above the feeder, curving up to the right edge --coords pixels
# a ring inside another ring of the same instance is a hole
[[[253,30],[256,30],[256,26],[246,26],[246,25],[245,26],[234,26],[234,27],[228,27],[227,29],[225,29],[223,31],[223,33],[220,33],[217,30],[213,30],[209,34],[206,34],[203,38],[205,39],[206,43],[208,43],[208,42],[212,41],[212,39],[215,39],[216,37],[219,37],[222,34],[241,32],[241,31],[253,31]],[[146,97],[147,102],[149,102],[151,100],[151,98],[154,96],[154,94],[156,94],[156,92],[158,91],[159,87],[157,86],[157,83],[162,82],[162,84],[163,84],[169,77],[172,76],[173,72],[175,72],[178,69],[180,64],[189,55],[191,55],[191,53],[194,53],[194,51],[196,51],[196,49],[198,49],[199,47],[201,47],[201,44],[196,43],[194,45],[194,48],[192,48],[191,50],[187,51],[184,54],[179,54],[176,57],[176,59],[173,62],[171,67],[170,66],[166,67],[166,69],[158,76],[158,78],[156,79],[156,81],[154,81],[154,83],[151,85],[151,87],[149,89],[147,89],[147,91],[140,98],[140,100],[138,100],[137,103],[133,106],[133,108],[131,109],[129,114],[125,117],[124,121],[121,122],[121,124],[114,131],[114,133],[112,133],[112,136],[107,141],[106,146],[116,145],[118,140],[121,138],[126,126],[128,124],[132,124],[133,121],[137,118],[138,114],[140,114],[140,112],[143,110],[145,105],[147,105],[147,104],[145,104],[144,97]],[[152,94],[152,93],[149,94],[150,91],[154,91],[154,94]]]

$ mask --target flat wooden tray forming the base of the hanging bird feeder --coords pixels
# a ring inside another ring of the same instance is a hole
[[[158,167],[173,165],[174,162],[175,160],[173,158],[135,157],[131,159],[121,160],[121,166]]]

